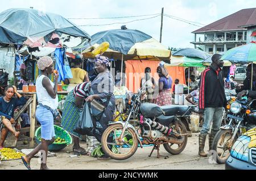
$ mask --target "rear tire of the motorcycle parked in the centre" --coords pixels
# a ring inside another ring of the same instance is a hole
[[[171,123],[170,124],[170,127],[173,126],[174,123]],[[178,132],[179,134],[185,134],[187,133],[187,129],[185,127],[185,125],[181,122],[181,121],[178,121],[177,125],[179,125],[179,128],[181,128],[181,132]],[[170,145],[170,144],[163,144],[164,146],[164,149],[166,149],[166,151],[168,151],[168,153],[171,153],[171,154],[180,154],[184,149],[185,147],[187,146],[187,141],[188,141],[188,135],[184,136],[184,142],[183,144],[181,145],[178,145],[178,148],[177,149],[174,149],[174,148],[171,148],[171,146],[173,145]]]

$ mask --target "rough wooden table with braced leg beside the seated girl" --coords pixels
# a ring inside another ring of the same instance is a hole
[[[27,103],[23,106],[23,108],[19,111],[18,115],[14,117],[14,120],[18,119],[19,116],[26,110],[28,106],[30,106],[30,148],[34,148],[34,137],[35,137],[35,127],[36,127],[36,119],[35,119],[35,111],[36,111],[36,92],[23,92],[18,90],[19,94],[28,96]],[[57,94],[67,95],[69,92],[60,91]]]

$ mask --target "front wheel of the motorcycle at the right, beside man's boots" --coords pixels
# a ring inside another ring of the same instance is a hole
[[[234,144],[234,142],[237,140],[237,136],[234,138],[231,146],[229,146],[230,139],[232,138],[232,130],[228,129],[220,129],[220,131],[217,132],[216,136],[213,139],[212,142],[212,148],[211,150],[214,150],[213,159],[218,164],[224,164],[226,160],[229,158],[230,150]]]

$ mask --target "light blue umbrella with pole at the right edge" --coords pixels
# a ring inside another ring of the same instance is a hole
[[[256,62],[256,42],[228,50],[222,57],[222,60],[228,60],[234,64],[248,64]],[[251,89],[253,89],[253,64],[251,66]]]

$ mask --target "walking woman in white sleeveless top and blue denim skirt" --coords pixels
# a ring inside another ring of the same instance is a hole
[[[27,169],[31,169],[30,161],[38,151],[42,153],[41,170],[48,169],[46,165],[48,146],[55,140],[55,131],[53,124],[53,112],[58,107],[57,81],[59,73],[54,73],[55,83],[48,78],[53,73],[53,60],[51,57],[44,56],[38,60],[38,69],[41,74],[36,79],[36,95],[39,105],[36,107],[36,119],[41,124],[42,142],[36,146],[32,152],[24,157],[22,161]]]

